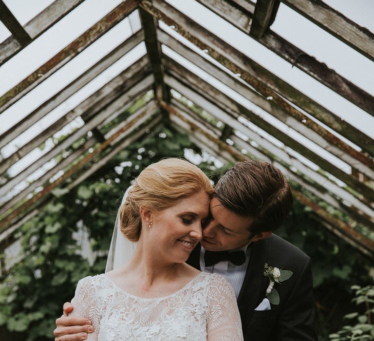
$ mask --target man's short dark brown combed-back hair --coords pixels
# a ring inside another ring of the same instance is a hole
[[[244,161],[228,170],[217,182],[214,196],[225,208],[253,219],[252,236],[280,227],[293,203],[281,171],[259,160]]]

